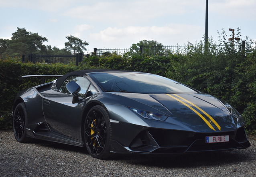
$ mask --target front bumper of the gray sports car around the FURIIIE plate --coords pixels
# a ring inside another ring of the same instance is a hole
[[[229,135],[228,142],[205,143],[206,136]],[[195,133],[149,128],[141,131],[128,146],[112,142],[112,152],[142,154],[175,154],[204,151],[246,149],[250,147],[244,127],[236,131]]]

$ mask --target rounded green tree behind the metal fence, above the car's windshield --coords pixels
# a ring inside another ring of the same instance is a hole
[[[142,51],[140,48],[142,47]],[[130,52],[141,53],[143,55],[156,55],[163,52],[163,44],[155,40],[141,40],[137,44],[132,44]]]

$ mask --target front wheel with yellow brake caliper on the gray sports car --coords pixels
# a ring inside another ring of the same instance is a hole
[[[94,106],[88,112],[84,123],[84,142],[88,153],[97,159],[108,159],[112,128],[108,111],[100,106]]]

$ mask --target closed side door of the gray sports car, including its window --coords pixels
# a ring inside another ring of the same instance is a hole
[[[75,81],[81,86],[79,101],[72,103],[73,95],[67,91],[66,84]],[[70,76],[55,91],[43,98],[43,113],[51,131],[80,140],[81,110],[83,99],[90,82],[82,76]]]

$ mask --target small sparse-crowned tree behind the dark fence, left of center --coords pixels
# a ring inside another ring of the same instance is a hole
[[[66,36],[66,38],[69,40],[68,42],[65,42],[65,49],[68,52],[71,52],[73,54],[76,53],[83,53],[83,50],[86,51],[85,46],[89,45],[88,42],[83,42],[81,39],[75,37],[75,36]]]

